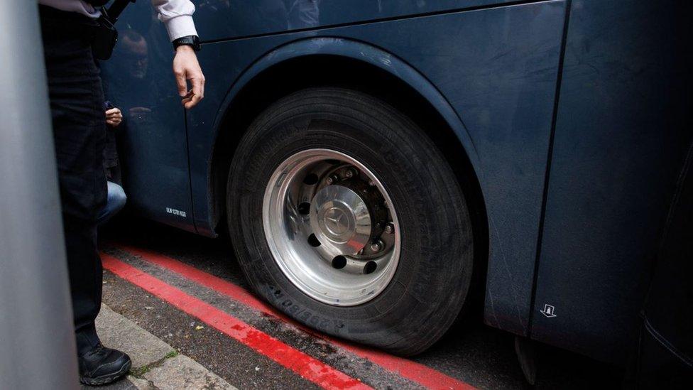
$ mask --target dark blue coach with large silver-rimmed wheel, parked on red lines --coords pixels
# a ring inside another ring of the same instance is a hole
[[[330,335],[416,354],[479,300],[626,361],[690,139],[676,1],[195,0],[189,112],[148,3],[103,65],[138,214],[229,232]]]

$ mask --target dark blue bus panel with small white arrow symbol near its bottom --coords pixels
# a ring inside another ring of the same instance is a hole
[[[659,1],[572,2],[533,309],[537,340],[609,362],[624,362],[635,347],[691,137],[681,125],[690,100],[680,86],[690,70],[682,65],[687,35],[672,23],[677,12]]]

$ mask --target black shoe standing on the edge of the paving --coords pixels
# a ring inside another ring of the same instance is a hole
[[[80,381],[89,386],[109,384],[124,377],[130,370],[130,357],[99,343],[80,356]]]

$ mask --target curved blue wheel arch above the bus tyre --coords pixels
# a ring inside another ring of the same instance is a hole
[[[462,119],[429,80],[395,55],[363,42],[344,38],[296,40],[263,55],[231,86],[214,120],[215,142],[209,159],[213,225],[225,215],[233,151],[251,121],[280,97],[319,86],[348,87],[385,100],[425,129],[444,153],[468,203],[474,229],[473,288],[478,289],[474,295],[483,295],[489,234],[474,143]]]

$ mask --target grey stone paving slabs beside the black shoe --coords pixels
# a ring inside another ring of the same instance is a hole
[[[130,355],[132,368],[126,379],[109,386],[82,386],[82,389],[236,390],[217,374],[190,357],[178,354],[163,340],[114,312],[107,305],[102,305],[97,318],[97,331],[104,345]]]

